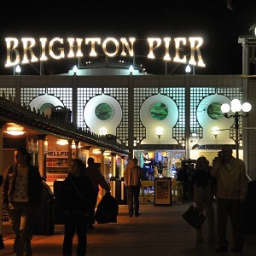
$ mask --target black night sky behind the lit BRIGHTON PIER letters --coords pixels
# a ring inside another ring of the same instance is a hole
[[[240,74],[238,37],[253,33],[249,28],[256,23],[256,0],[230,0],[232,9],[227,7],[228,0],[27,2],[0,4],[0,74],[13,73],[12,68],[4,68],[6,37],[135,37],[143,41],[149,37],[193,36],[204,38],[201,54],[207,66],[196,67],[195,73]],[[162,60],[140,61],[148,73],[165,73]],[[48,61],[44,73],[67,73],[76,63]],[[29,65],[22,69],[23,74],[36,74]],[[183,65],[177,67],[173,62],[167,66],[168,73],[181,74],[183,70]]]

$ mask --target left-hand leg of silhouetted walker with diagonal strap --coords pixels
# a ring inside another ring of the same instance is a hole
[[[64,240],[62,245],[62,254],[63,255],[72,255],[72,246],[73,246],[73,236],[75,232],[75,221],[73,215],[65,215],[65,231],[64,231]]]

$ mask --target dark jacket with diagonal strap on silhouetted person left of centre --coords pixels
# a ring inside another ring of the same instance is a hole
[[[82,197],[74,188],[73,183],[76,185]],[[65,178],[61,190],[61,206],[68,212],[87,212],[91,209],[94,190],[90,183],[90,179],[84,174],[79,177],[74,177],[71,173]]]

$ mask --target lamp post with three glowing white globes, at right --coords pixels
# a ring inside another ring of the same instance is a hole
[[[235,129],[236,129],[236,158],[239,158],[239,119],[246,118],[248,116],[249,111],[252,109],[250,103],[245,102],[241,104],[241,102],[237,99],[231,101],[230,105],[228,103],[224,103],[221,105],[221,111],[224,113],[224,117],[227,119],[234,118],[235,119]],[[231,110],[231,114],[228,113]]]

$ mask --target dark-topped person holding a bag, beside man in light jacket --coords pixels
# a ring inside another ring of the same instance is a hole
[[[212,189],[212,176],[209,172],[209,161],[206,157],[201,156],[196,160],[195,172],[192,178],[194,186],[194,201],[195,208],[201,213],[206,212],[207,215],[207,242],[212,243],[215,241],[214,232],[214,211],[213,211],[213,189]],[[203,224],[204,225],[204,224]],[[196,241],[204,241],[203,225],[196,230]]]

